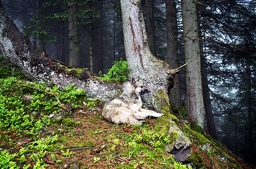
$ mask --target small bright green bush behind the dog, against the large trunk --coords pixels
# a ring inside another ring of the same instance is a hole
[[[120,61],[114,61],[114,65],[109,69],[107,74],[102,75],[102,73],[100,73],[100,77],[97,78],[107,82],[122,83],[129,78],[129,70],[127,61],[123,61],[121,58]]]

